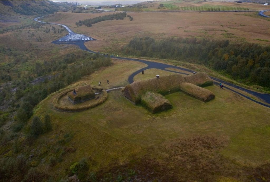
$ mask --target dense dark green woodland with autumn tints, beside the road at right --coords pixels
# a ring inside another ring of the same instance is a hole
[[[122,51],[126,55],[175,59],[204,65],[238,82],[270,90],[270,46],[205,38],[155,40],[144,37],[132,39]]]

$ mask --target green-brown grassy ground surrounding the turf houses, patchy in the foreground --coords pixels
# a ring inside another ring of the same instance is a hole
[[[113,66],[72,86],[114,78],[115,70],[124,68],[119,78],[110,83],[110,87],[123,86],[127,83],[127,76],[143,66],[137,62],[130,64],[115,60]],[[150,73],[156,72],[146,70],[145,75],[138,74],[135,78],[145,76],[143,79],[146,79],[153,77]],[[108,170],[124,173],[119,169],[133,168],[143,177],[146,174],[139,169],[144,166],[161,181],[196,180],[200,177],[210,181],[222,181],[224,177],[246,181],[250,168],[261,166],[270,159],[267,152],[270,149],[269,109],[218,86],[205,88],[215,94],[214,100],[203,103],[177,92],[165,96],[173,104],[173,109],[158,114],[132,105],[120,95],[120,91],[110,92],[102,105],[78,113],[54,110],[51,102],[55,95],[51,95],[36,107],[35,115],[49,113],[53,131],[41,136],[33,147],[42,148],[41,143],[60,140],[66,133],[72,133],[66,147],[76,150],[70,149],[73,152],[66,153],[63,161],[53,167],[55,175],[64,175],[72,163],[87,158],[89,171],[100,175]],[[47,154],[54,155],[48,150]],[[46,163],[48,160],[46,157]],[[163,173],[158,174],[161,171]],[[244,172],[240,174],[240,171]],[[178,173],[181,175],[175,176]]]

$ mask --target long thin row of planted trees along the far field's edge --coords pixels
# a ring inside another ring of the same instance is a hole
[[[142,7],[122,7],[116,8],[116,11],[137,11],[137,12],[152,12],[152,11],[249,11],[249,8],[242,7],[209,7],[209,6],[162,6],[158,8],[142,8]]]

